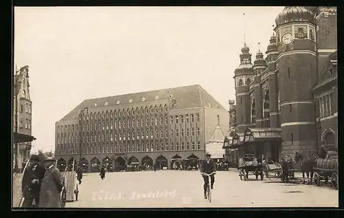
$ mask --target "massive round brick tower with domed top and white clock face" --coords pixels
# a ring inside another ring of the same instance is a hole
[[[315,109],[311,89],[317,80],[314,14],[288,6],[277,15],[277,71],[280,91],[281,157],[316,151]]]

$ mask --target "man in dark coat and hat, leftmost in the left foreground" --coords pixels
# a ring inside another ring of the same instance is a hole
[[[32,155],[28,167],[24,170],[21,183],[21,191],[24,197],[23,207],[32,207],[33,201],[36,203],[35,206],[39,205],[39,192],[44,173],[45,168],[39,164],[39,156]]]

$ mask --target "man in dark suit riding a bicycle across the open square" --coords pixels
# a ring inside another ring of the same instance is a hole
[[[201,164],[200,164],[200,171],[201,174],[202,173],[206,173],[206,174],[211,174],[213,172],[216,172],[216,164],[213,160],[211,160],[211,154],[210,153],[206,153],[206,160],[202,160]],[[208,188],[208,184],[209,184],[209,179],[207,175],[202,175],[203,179],[204,179],[204,198],[206,199],[206,190]],[[215,182],[215,177],[214,174],[211,175],[211,189],[214,188],[214,182]]]

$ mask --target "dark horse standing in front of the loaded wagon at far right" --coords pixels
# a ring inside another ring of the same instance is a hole
[[[316,157],[313,155],[314,160],[311,160],[310,157],[305,157],[301,153],[296,153],[295,154],[295,163],[300,162],[301,166],[301,172],[302,172],[302,179],[303,179],[303,184],[305,184],[305,174],[307,175],[307,184],[312,184],[312,179],[313,179],[313,174],[314,170],[313,167],[316,166]]]

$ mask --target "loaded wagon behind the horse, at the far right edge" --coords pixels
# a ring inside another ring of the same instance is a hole
[[[331,179],[332,187],[338,189],[338,159],[318,158],[314,171],[314,184],[320,186],[321,180],[328,182]]]

